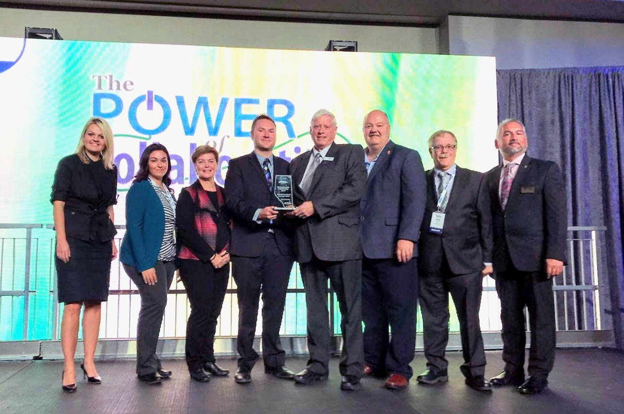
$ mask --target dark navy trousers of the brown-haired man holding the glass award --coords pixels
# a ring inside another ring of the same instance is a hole
[[[262,296],[262,357],[266,368],[284,365],[285,352],[280,342],[281,319],[286,303],[288,279],[293,256],[280,253],[275,234],[266,233],[259,257],[232,257],[232,274],[238,289],[238,367],[251,371],[258,360],[253,339]]]

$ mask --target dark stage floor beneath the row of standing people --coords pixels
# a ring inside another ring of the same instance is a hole
[[[262,362],[252,382],[234,383],[229,377],[210,383],[192,382],[183,359],[167,360],[173,378],[162,385],[140,383],[132,360],[97,362],[102,385],[78,382],[76,393],[61,391],[61,361],[0,362],[2,413],[622,413],[624,412],[624,354],[613,350],[558,350],[550,389],[542,395],[519,395],[514,388],[479,393],[464,385],[459,372],[461,353],[451,352],[449,382],[390,391],[384,380],[364,378],[364,390],[342,392],[338,359],[331,361],[328,382],[296,386],[264,373]],[[500,352],[487,353],[487,377],[499,373]],[[235,359],[218,363],[232,372]],[[306,359],[291,357],[298,372]],[[415,373],[425,368],[417,354]],[[79,367],[77,367],[79,369]]]

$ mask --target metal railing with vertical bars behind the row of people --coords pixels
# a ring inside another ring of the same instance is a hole
[[[117,226],[120,233],[125,226]],[[25,235],[24,235],[25,231]],[[555,278],[553,296],[557,330],[601,330],[600,234],[605,227],[570,227],[570,261]],[[57,303],[55,239],[51,224],[0,224],[0,340],[57,340],[62,306]],[[122,236],[119,234],[118,236]],[[119,246],[120,238],[117,238]],[[484,278],[480,322],[483,332],[500,330],[500,302],[494,280]],[[603,292],[608,294],[608,292]],[[329,291],[333,332],[339,335],[340,314]],[[459,322],[451,303],[451,332]],[[111,266],[109,299],[102,304],[100,339],[134,339],[139,314],[139,291],[125,275],[119,260]],[[183,338],[190,307],[182,282],[173,281],[160,335]],[[236,284],[230,277],[217,325],[217,337],[236,337],[238,303]],[[527,323],[528,326],[528,323]],[[256,332],[261,332],[261,314]],[[422,332],[420,314],[417,332]],[[297,264],[293,266],[286,293],[281,335],[306,335],[305,291]]]

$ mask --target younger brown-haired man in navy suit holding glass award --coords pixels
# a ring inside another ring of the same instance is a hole
[[[293,204],[292,191],[288,199],[289,165],[273,155],[276,127],[271,117],[258,115],[250,135],[253,152],[231,160],[225,178],[225,204],[234,224],[230,243],[232,274],[238,287],[237,383],[251,382],[251,368],[258,360],[253,338],[260,294],[265,372],[288,380],[294,377],[284,365],[285,352],[280,343],[281,317],[294,261],[289,222],[278,214],[278,209],[289,207],[280,200]]]

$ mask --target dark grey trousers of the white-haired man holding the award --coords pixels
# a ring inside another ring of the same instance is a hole
[[[326,262],[313,256],[300,263],[301,279],[306,291],[308,310],[308,350],[310,372],[327,375],[331,338],[327,280],[338,298],[342,316],[340,327],[343,349],[340,355],[341,375],[362,377],[364,348],[362,342],[362,261]]]

